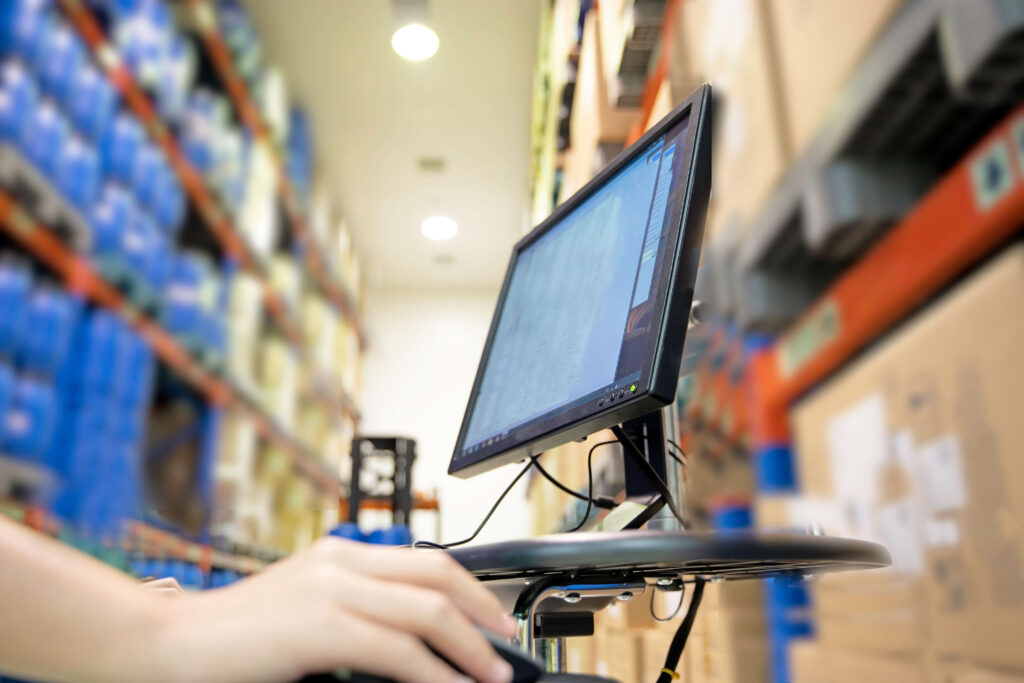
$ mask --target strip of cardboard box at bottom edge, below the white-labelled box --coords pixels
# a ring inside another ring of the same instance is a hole
[[[926,683],[921,659],[870,656],[809,640],[790,645],[793,683]]]

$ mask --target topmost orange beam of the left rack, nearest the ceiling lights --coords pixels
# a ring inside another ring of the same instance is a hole
[[[278,191],[285,208],[289,227],[301,248],[309,273],[327,299],[337,310],[341,311],[355,329],[359,345],[365,346],[366,336],[357,306],[351,293],[345,291],[337,274],[333,272],[331,264],[323,257],[321,245],[316,244],[315,236],[309,228],[298,194],[285,172],[281,152],[273,142],[266,122],[253,102],[249,88],[239,76],[231,53],[220,35],[213,8],[208,0],[188,0],[188,6],[191,9],[194,23],[203,47],[216,68],[239,117],[253,137],[266,144],[273,153],[278,172]]]

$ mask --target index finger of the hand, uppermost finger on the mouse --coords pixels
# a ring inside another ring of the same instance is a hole
[[[317,543],[318,551],[333,562],[369,577],[439,591],[479,626],[507,638],[515,635],[515,622],[504,613],[498,598],[444,552],[324,541]]]

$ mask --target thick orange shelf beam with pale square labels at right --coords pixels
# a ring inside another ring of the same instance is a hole
[[[1024,225],[1024,108],[1017,109],[783,335],[760,368],[784,411]],[[808,340],[818,340],[808,346]]]

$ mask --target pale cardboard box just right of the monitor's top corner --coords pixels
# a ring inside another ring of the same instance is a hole
[[[717,219],[749,225],[792,158],[766,0],[686,0],[686,60],[715,92]],[[745,227],[744,227],[745,229]]]

